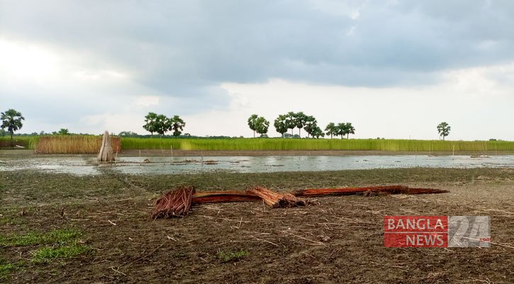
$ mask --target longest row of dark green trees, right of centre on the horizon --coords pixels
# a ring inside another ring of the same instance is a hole
[[[268,132],[269,121],[264,119],[262,116],[257,116],[257,114],[252,114],[248,119],[248,126],[250,129],[254,131],[253,136],[255,137],[255,132],[264,136]],[[282,137],[284,134],[291,129],[291,136],[293,135],[293,130],[298,128],[298,137],[301,138],[301,129],[305,130],[307,133],[307,137],[312,136],[315,138],[324,137],[325,133],[318,126],[318,121],[314,118],[314,116],[308,116],[300,112],[289,111],[287,114],[280,114],[274,121],[274,126],[276,132],[281,133]],[[330,135],[330,138],[333,136],[347,136],[350,137],[350,134],[355,133],[355,128],[352,126],[350,122],[340,123],[335,125],[333,122],[327,125],[325,128],[327,136]]]

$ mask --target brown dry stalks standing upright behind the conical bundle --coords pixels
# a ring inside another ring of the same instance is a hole
[[[98,153],[101,136],[42,136],[38,140],[36,153]],[[121,151],[121,139],[111,137],[113,151]]]

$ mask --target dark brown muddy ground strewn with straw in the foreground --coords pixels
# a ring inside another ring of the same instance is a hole
[[[175,185],[198,191],[402,184],[442,195],[318,198],[271,209],[259,202],[203,204],[188,217],[149,219]],[[512,283],[513,169],[389,169],[290,173],[74,176],[0,172],[0,236],[75,228],[91,248],[31,261],[39,244],[0,246],[6,283]],[[24,209],[24,210],[23,210]],[[384,248],[384,215],[489,215],[493,244]],[[57,244],[55,245],[57,246]],[[235,257],[227,257],[235,256]]]

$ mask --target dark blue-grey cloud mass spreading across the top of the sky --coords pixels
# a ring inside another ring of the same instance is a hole
[[[513,60],[512,1],[2,1],[0,33],[173,97],[271,77],[386,87]],[[224,94],[213,94],[221,107]],[[207,107],[207,106],[206,106]],[[214,106],[213,106],[214,107]]]

